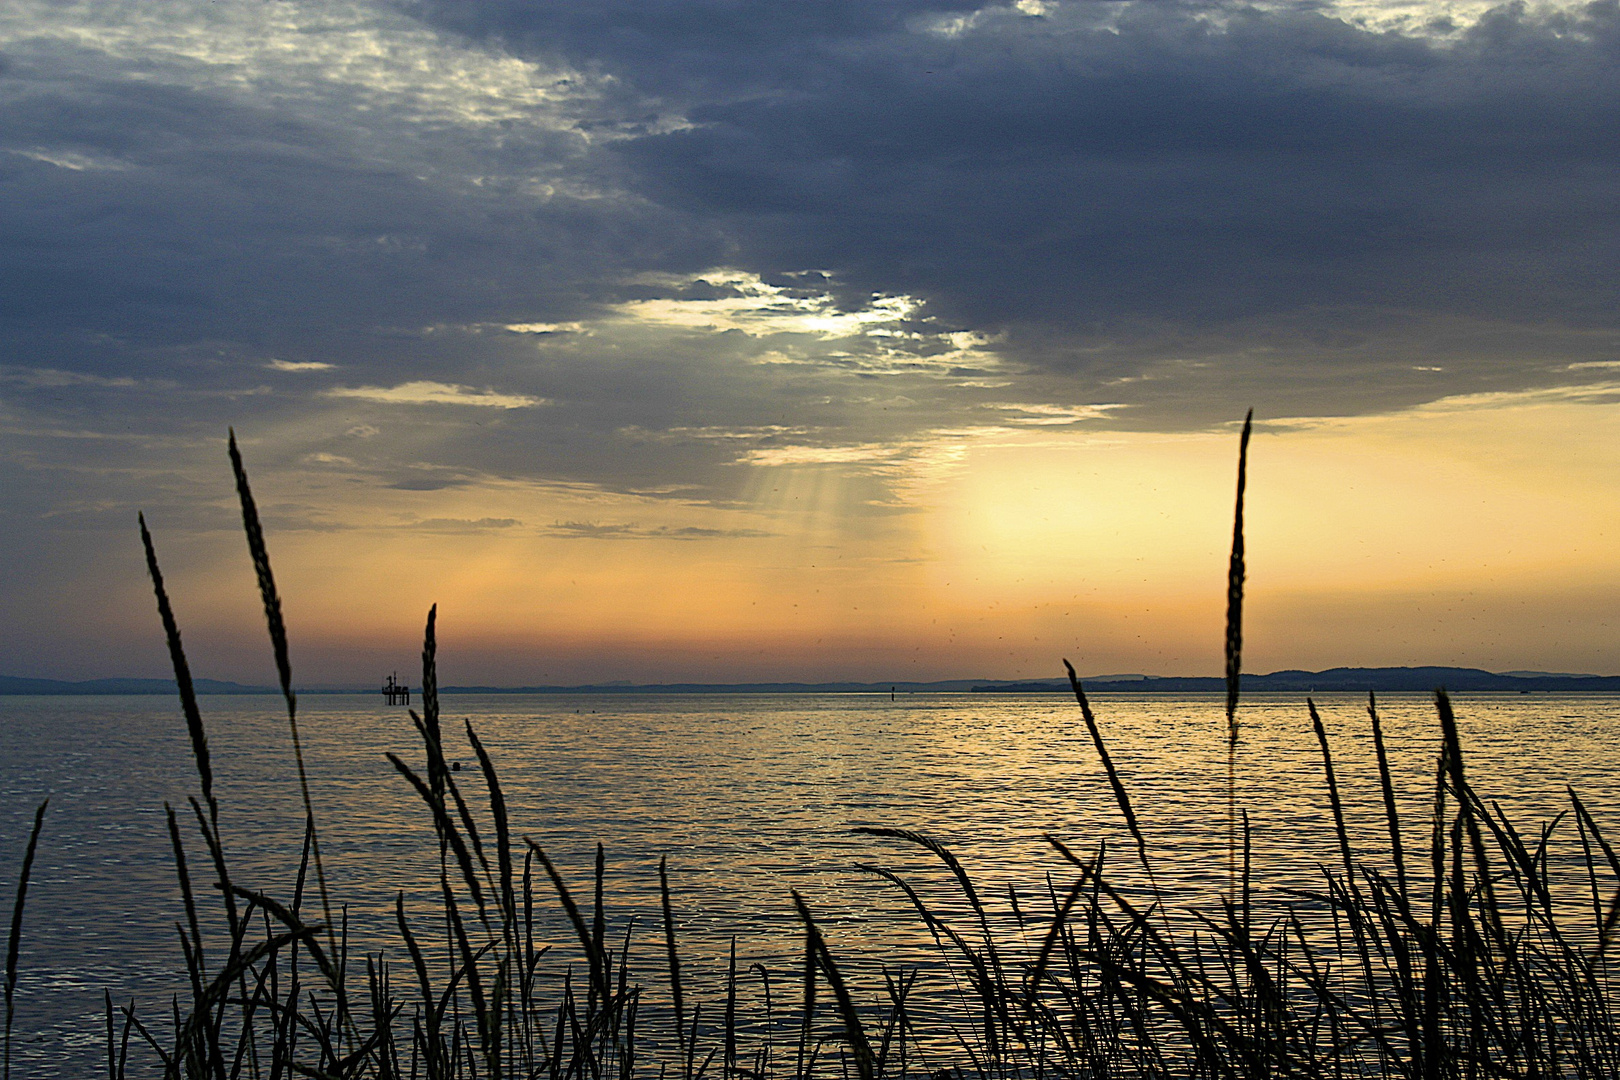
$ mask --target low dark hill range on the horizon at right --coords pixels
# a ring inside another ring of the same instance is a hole
[[[1087,693],[1218,693],[1226,688],[1220,677],[1166,677],[1131,680],[1082,680]],[[1283,670],[1270,675],[1243,677],[1244,693],[1345,693],[1380,690],[1429,691],[1447,690],[1498,690],[1498,691],[1568,691],[1601,690],[1620,693],[1620,675],[1552,675],[1521,672],[1498,675],[1477,667],[1330,667],[1324,672]],[[1040,680],[1019,683],[978,683],[975,693],[1048,693],[1069,691],[1068,680]]]

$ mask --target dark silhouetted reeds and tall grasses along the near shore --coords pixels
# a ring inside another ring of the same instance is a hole
[[[1575,793],[1570,811],[1534,834],[1521,834],[1486,803],[1468,784],[1443,691],[1435,696],[1442,751],[1427,844],[1403,842],[1369,699],[1388,842],[1375,855],[1353,847],[1327,733],[1307,704],[1338,865],[1324,868],[1320,891],[1268,907],[1252,887],[1247,821],[1234,813],[1228,895],[1217,910],[1186,912],[1155,882],[1129,792],[1071,667],[1079,716],[1134,850],[1074,852],[1051,839],[1072,868],[1071,879],[1030,882],[1043,900],[1038,910],[1025,902],[1017,933],[1008,933],[949,850],[914,832],[865,831],[927,848],[954,882],[959,904],[946,912],[930,907],[915,882],[867,868],[893,882],[938,944],[946,975],[932,1001],[943,994],[944,1012],[917,1006],[919,980],[927,976],[914,970],[885,968],[881,986],[846,980],[838,942],[823,938],[797,894],[804,929],[797,968],[739,972],[732,960],[718,997],[697,1001],[682,981],[663,866],[664,962],[658,970],[630,970],[630,942],[608,938],[599,848],[596,873],[577,894],[544,850],[512,834],[496,764],[470,724],[465,735],[478,774],[450,769],[429,614],[423,708],[411,712],[421,746],[411,761],[394,755],[389,761],[434,821],[439,910],[413,921],[400,899],[394,952],[352,955],[327,895],[280,601],[235,442],[232,461],[303,785],[303,857],[295,879],[279,891],[238,879],[227,863],[207,733],[143,521],[199,787],[190,806],[168,808],[185,920],[180,957],[191,993],[162,1022],[109,999],[112,1078],[1620,1075],[1607,960],[1620,916],[1620,858]],[[1234,539],[1233,593],[1241,610],[1241,518]],[[1233,745],[1236,641],[1230,625]],[[473,776],[471,787],[458,782]],[[18,936],[42,814],[44,806],[13,904],[6,1074]],[[1549,860],[1560,831],[1573,831],[1584,853],[1580,881],[1555,873]],[[535,944],[551,905],[572,928],[577,944],[569,955]],[[773,984],[792,993],[773,999]],[[784,1020],[794,1031],[787,1040],[776,1035]]]

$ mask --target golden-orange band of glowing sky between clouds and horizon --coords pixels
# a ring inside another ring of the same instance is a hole
[[[1605,393],[1262,419],[1246,669],[1615,670]],[[311,682],[366,677],[382,643],[408,664],[431,602],[465,683],[1050,677],[1064,656],[1218,670],[1233,431],[985,427],[912,450],[752,466],[734,507],[499,479],[340,502],[298,473],[258,484],[339,529],[271,531]],[[190,641],[254,636],[235,544],[170,560]]]

